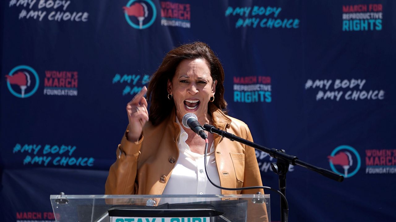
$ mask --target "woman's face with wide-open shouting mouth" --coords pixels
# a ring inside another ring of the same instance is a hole
[[[179,120],[186,113],[194,113],[198,119],[205,118],[216,83],[205,60],[197,58],[180,62],[172,81],[168,80],[168,92],[173,95]]]

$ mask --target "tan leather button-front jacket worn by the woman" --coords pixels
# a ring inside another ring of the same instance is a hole
[[[247,125],[211,105],[214,126],[253,141]],[[118,145],[117,159],[110,167],[105,193],[113,195],[161,195],[179,157],[180,127],[175,112],[157,126],[147,122],[143,137],[133,143],[125,135]],[[262,186],[255,151],[242,143],[214,135],[215,159],[223,187]],[[256,190],[221,190],[221,194],[256,194]]]

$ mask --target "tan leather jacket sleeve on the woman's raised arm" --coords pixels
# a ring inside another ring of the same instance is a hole
[[[136,194],[138,184],[136,181],[137,159],[143,142],[143,136],[137,142],[130,142],[125,132],[116,151],[116,162],[111,165],[109,176],[105,184],[107,195],[129,195]]]

